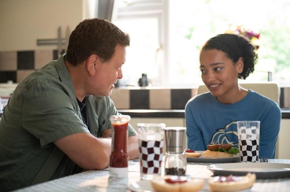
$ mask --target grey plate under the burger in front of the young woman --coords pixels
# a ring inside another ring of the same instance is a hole
[[[201,153],[200,157],[186,157],[187,162],[193,163],[236,163],[241,162],[240,154],[235,155],[234,157],[224,157],[224,158],[204,158],[203,152],[204,151],[196,151]]]

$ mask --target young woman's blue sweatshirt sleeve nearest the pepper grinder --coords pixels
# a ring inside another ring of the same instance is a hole
[[[189,102],[185,107],[188,148],[191,150],[206,150],[202,132],[196,124],[193,113],[191,102]]]

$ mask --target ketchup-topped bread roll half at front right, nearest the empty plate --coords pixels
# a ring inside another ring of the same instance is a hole
[[[213,191],[237,191],[251,188],[256,181],[256,175],[248,173],[246,176],[235,176],[234,181],[215,181],[216,177],[209,179],[209,186]],[[236,180],[237,179],[237,180]],[[236,180],[236,181],[235,181]]]

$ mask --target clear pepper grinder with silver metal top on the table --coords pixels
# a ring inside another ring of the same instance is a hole
[[[166,127],[164,133],[166,143],[165,175],[185,175],[187,165],[185,155],[186,127]]]

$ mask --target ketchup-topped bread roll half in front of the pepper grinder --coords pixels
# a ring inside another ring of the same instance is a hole
[[[151,185],[156,192],[195,192],[202,189],[204,182],[202,179],[189,178],[186,182],[168,183],[165,181],[166,178],[170,176],[154,177],[151,180]]]

